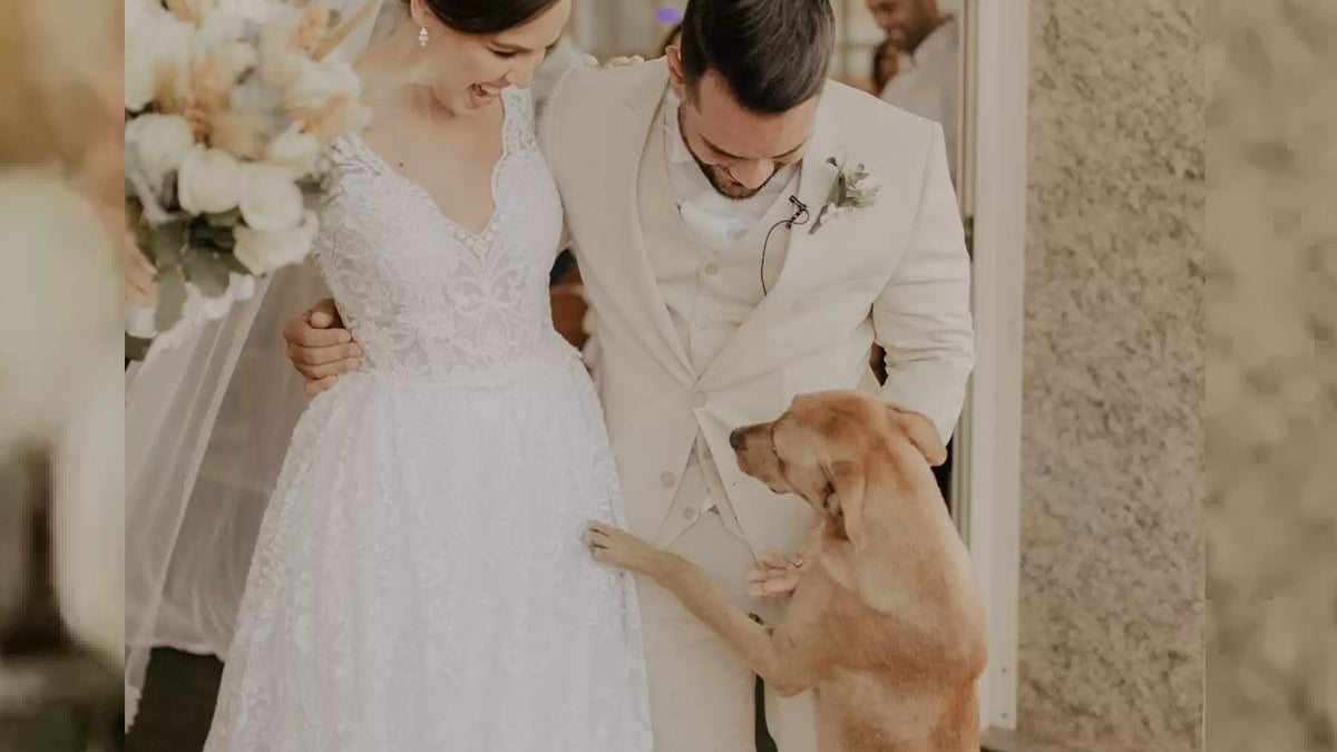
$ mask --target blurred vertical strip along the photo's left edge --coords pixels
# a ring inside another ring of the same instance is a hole
[[[122,11],[0,3],[0,749],[119,745]]]

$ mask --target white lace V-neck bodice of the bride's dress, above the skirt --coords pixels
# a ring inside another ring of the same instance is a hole
[[[562,201],[535,140],[523,90],[503,92],[496,210],[473,234],[362,140],[336,143],[338,186],[316,260],[366,369],[455,377],[503,369],[552,332],[548,273]]]

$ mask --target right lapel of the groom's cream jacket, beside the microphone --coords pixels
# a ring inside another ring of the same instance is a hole
[[[766,337],[763,333],[767,322],[777,312],[783,310],[785,301],[793,300],[796,294],[801,294],[804,281],[812,278],[814,265],[820,264],[824,258],[821,248],[825,248],[825,244],[817,244],[816,241],[826,241],[828,238],[818,238],[809,230],[812,230],[813,223],[817,221],[817,214],[826,202],[832,183],[836,181],[836,169],[828,165],[826,159],[836,157],[837,139],[838,122],[836,114],[824,100],[818,106],[817,122],[813,124],[812,143],[809,143],[808,150],[804,153],[804,162],[798,175],[798,199],[808,206],[809,219],[805,225],[794,225],[787,230],[782,230],[783,236],[777,230],[777,237],[771,238],[773,244],[777,241],[786,242],[789,248],[785,265],[779,270],[779,278],[775,280],[774,289],[757,304],[757,308],[747,314],[747,318],[743,320],[723,349],[719,351],[719,355],[715,356],[710,368],[702,375],[701,388],[710,389],[730,381],[731,373],[739,363],[747,363],[754,357],[754,351],[765,349]],[[828,230],[829,227],[824,226],[821,234],[825,234]]]

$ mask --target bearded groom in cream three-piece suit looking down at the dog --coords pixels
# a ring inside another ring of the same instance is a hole
[[[691,0],[666,60],[571,71],[540,135],[598,321],[591,367],[631,527],[767,620],[777,605],[750,599],[746,575],[816,519],[743,476],[729,432],[798,393],[864,388],[945,442],[973,359],[943,130],[828,82],[833,43],[825,0]],[[356,363],[313,347],[330,324],[310,313],[286,332],[317,388]],[[640,595],[655,749],[753,749],[746,665],[666,591]],[[767,692],[781,752],[816,752],[813,708]]]

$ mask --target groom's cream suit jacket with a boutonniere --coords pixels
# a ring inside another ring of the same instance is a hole
[[[668,86],[663,60],[575,68],[548,99],[540,142],[598,318],[596,381],[634,533],[658,538],[698,432],[714,455],[754,553],[790,551],[816,522],[733,459],[729,434],[771,420],[796,395],[876,391],[948,438],[973,367],[969,258],[943,128],[829,82],[804,157],[798,198],[816,217],[836,158],[881,183],[876,202],[812,233],[777,233],[775,285],[701,372],[658,289],[638,207],[638,171]],[[677,207],[666,202],[663,211]],[[873,343],[888,355],[878,388]]]

